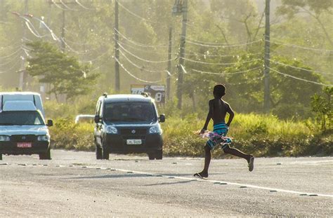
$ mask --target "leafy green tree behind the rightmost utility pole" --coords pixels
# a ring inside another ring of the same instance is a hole
[[[289,60],[279,56],[274,59],[283,65],[271,63],[271,68],[274,69],[274,71],[270,71],[270,104],[273,114],[280,118],[309,116],[311,96],[313,93],[319,92],[321,86],[283,76],[278,74],[277,71],[316,83],[322,83],[322,77],[320,74],[306,71],[306,69],[311,70],[311,68],[297,60]],[[227,82],[231,84],[230,89],[233,91],[230,102],[242,109],[243,112],[261,111],[263,102],[263,80],[261,79],[263,72],[261,66],[263,63],[261,60],[247,63],[249,60],[254,60],[254,56],[250,54],[243,55],[239,59],[240,64],[226,69],[227,75],[230,74]],[[256,69],[258,67],[259,69]],[[248,69],[255,70],[247,71]],[[244,73],[233,75],[237,71],[244,71]]]

